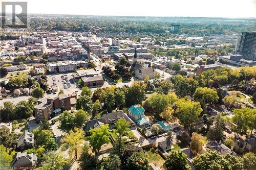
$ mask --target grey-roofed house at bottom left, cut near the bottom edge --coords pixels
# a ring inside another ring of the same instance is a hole
[[[27,152],[18,152],[14,160],[11,162],[11,167],[14,169],[33,169],[37,163],[37,156],[33,153],[27,154]]]

